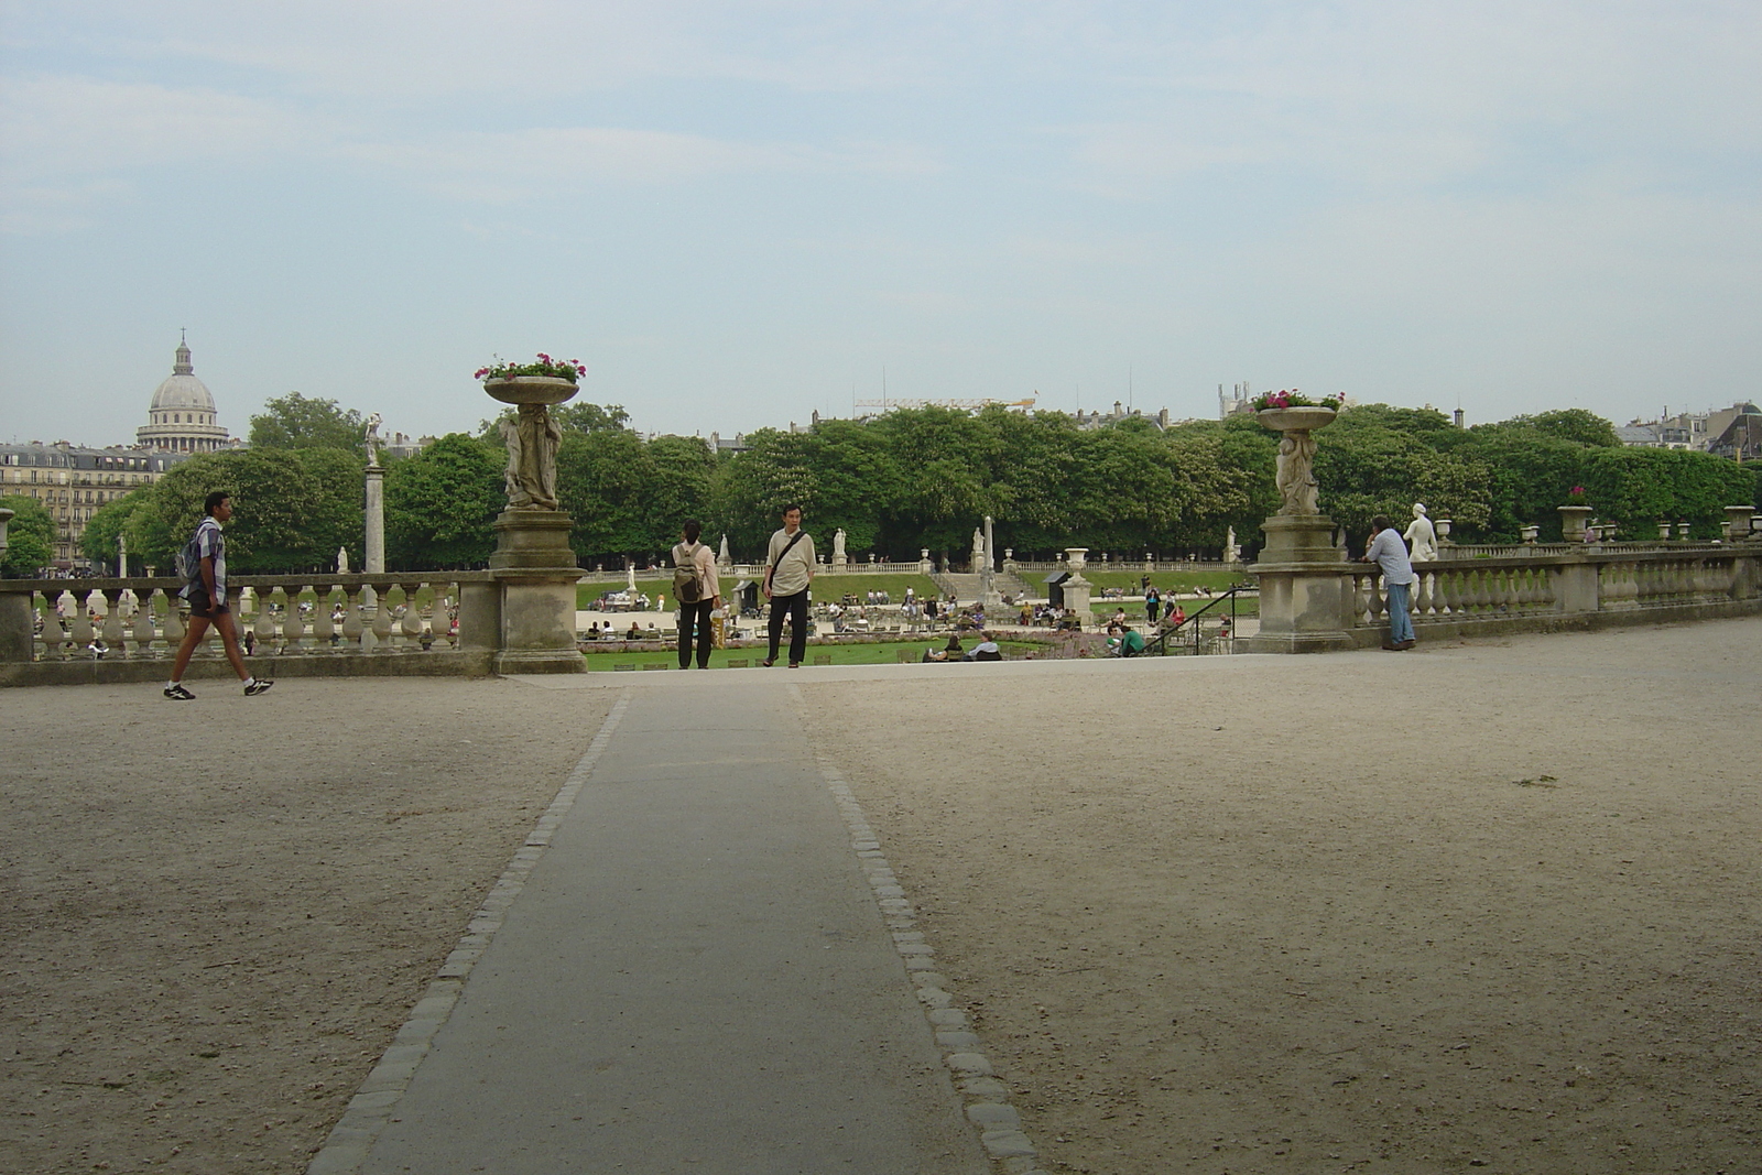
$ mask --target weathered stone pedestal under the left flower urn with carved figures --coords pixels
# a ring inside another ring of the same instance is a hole
[[[506,509],[495,520],[490,571],[500,587],[495,673],[585,673],[574,643],[574,585],[569,514]]]

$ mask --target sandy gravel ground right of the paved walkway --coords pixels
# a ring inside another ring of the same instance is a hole
[[[1048,1170],[1736,1173],[1758,666],[1734,620],[803,698]]]

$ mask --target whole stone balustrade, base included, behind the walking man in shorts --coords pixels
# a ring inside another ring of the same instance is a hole
[[[180,587],[176,578],[0,580],[0,684],[166,676],[189,625]],[[231,576],[227,587],[261,676],[490,671],[499,627],[490,573]],[[231,673],[224,655],[210,627],[190,675]]]

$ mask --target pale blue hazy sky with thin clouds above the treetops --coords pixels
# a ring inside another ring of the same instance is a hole
[[[1753,0],[0,0],[0,440],[1758,395]]]

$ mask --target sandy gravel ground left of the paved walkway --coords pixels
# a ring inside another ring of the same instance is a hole
[[[298,1173],[613,694],[0,692],[0,1170]]]

